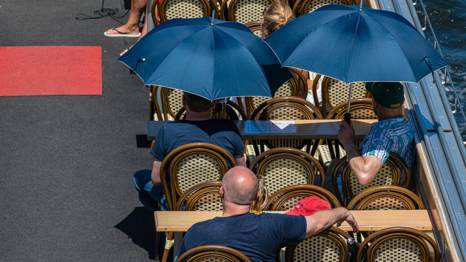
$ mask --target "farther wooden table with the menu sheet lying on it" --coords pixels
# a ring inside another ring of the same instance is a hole
[[[338,130],[340,130],[341,120],[289,120],[294,121],[296,126],[295,133],[247,133],[245,131],[246,121],[276,122],[281,120],[233,120],[240,130],[241,137],[244,140],[254,139],[337,139]],[[372,123],[377,120],[352,120],[355,129],[356,139],[362,139],[370,131]],[[155,140],[158,130],[163,124],[171,121],[147,121],[147,139]]]

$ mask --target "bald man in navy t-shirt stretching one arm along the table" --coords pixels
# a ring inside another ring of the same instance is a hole
[[[274,262],[277,250],[302,241],[336,223],[347,221],[354,231],[359,227],[346,208],[317,211],[312,215],[249,213],[258,196],[259,183],[251,170],[236,166],[226,172],[220,187],[223,214],[194,224],[181,244],[178,257],[203,245],[234,248],[252,262]]]

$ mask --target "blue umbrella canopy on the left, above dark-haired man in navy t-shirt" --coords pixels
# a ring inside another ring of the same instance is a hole
[[[118,58],[147,85],[210,100],[273,97],[292,77],[266,43],[246,26],[212,19],[171,19]]]

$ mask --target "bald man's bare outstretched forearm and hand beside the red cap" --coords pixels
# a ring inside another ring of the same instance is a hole
[[[353,215],[346,210],[346,208],[336,207],[334,209],[317,211],[306,217],[306,237],[317,234],[334,224],[339,227],[342,225],[343,221],[348,222],[351,228],[353,228],[353,231],[356,233],[359,232],[359,226],[357,225],[356,220]]]

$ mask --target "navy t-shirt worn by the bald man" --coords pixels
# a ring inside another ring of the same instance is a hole
[[[252,262],[274,262],[277,250],[301,242],[306,236],[302,215],[246,213],[216,217],[192,225],[186,232],[178,257],[203,245],[234,248]]]

